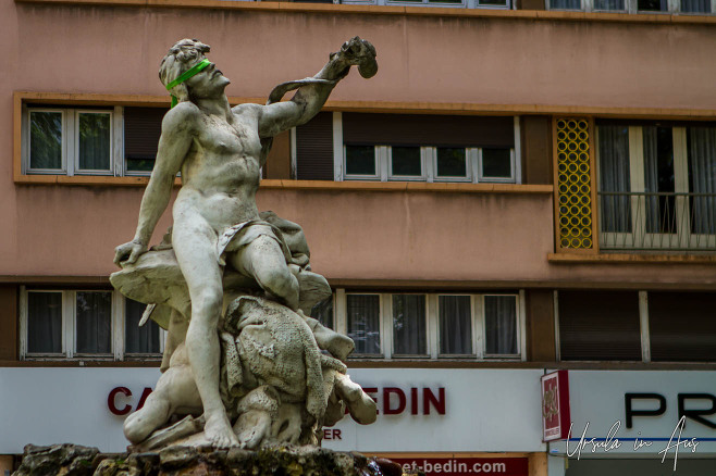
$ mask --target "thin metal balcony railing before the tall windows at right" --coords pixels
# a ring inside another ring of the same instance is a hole
[[[716,193],[597,196],[601,249],[716,251]]]

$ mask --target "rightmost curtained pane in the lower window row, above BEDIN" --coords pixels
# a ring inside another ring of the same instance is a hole
[[[517,300],[514,296],[485,296],[485,353],[517,353]]]

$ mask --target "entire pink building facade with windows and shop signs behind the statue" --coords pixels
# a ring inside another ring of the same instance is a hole
[[[0,468],[28,442],[122,451],[159,375],[162,330],[108,276],[156,159],[168,48],[211,45],[230,101],[264,103],[358,35],[378,75],[275,138],[257,199],[304,227],[334,290],[314,315],[356,340],[350,374],[379,402],[374,426],[341,422],[324,444],[428,474],[671,474],[658,451],[684,416],[701,442],[678,474],[713,472],[713,12],[3,0]],[[553,369],[569,371],[568,443],[543,441]],[[614,443],[616,422],[618,451],[575,452],[582,430]]]

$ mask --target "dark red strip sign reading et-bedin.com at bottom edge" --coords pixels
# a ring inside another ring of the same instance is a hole
[[[391,458],[410,473],[420,469],[425,476],[528,476],[527,458]]]

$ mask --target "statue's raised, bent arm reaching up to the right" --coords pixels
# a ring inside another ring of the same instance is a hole
[[[305,80],[289,101],[260,107],[259,136],[273,137],[310,121],[321,110],[338,80],[346,77],[351,65],[358,66],[361,76],[373,76],[378,72],[375,48],[358,37],[343,43],[316,76]]]

